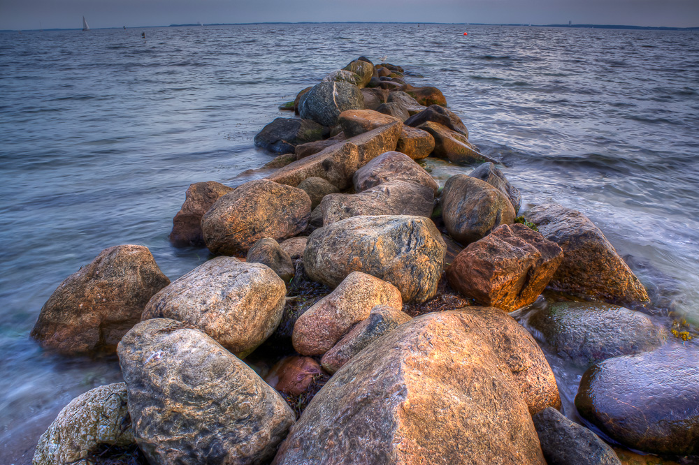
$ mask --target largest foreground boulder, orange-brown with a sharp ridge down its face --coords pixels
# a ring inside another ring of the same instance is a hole
[[[446,311],[384,335],[316,394],[273,464],[545,465],[528,408],[483,330]]]

